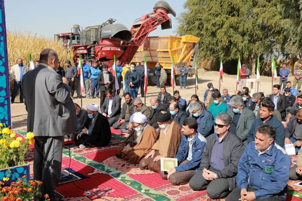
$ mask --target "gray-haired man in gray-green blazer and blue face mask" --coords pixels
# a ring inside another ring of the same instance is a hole
[[[232,124],[229,131],[237,135],[243,142],[244,146],[247,145],[247,135],[255,120],[255,113],[244,107],[244,102],[241,96],[233,96],[230,100],[231,107],[227,110],[232,117]]]

